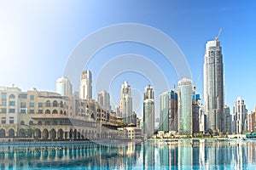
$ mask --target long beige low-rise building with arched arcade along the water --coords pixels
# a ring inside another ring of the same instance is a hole
[[[94,99],[0,88],[0,140],[119,138],[122,124]]]

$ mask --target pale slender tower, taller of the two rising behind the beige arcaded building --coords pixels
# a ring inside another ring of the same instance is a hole
[[[83,71],[80,81],[80,99],[92,99],[91,71]]]

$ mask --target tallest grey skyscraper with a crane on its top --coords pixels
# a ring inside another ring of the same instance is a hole
[[[224,65],[220,42],[207,42],[204,61],[204,109],[207,129],[224,132]]]

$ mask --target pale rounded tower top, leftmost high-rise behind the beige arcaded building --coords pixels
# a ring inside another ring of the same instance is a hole
[[[56,80],[56,93],[62,96],[72,95],[72,84],[67,77],[60,77]]]

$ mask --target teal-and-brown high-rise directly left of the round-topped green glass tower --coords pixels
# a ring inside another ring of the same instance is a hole
[[[160,94],[160,131],[177,131],[177,93]]]

